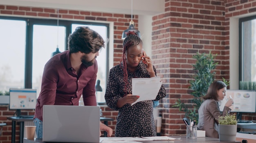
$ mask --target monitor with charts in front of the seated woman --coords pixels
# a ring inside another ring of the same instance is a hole
[[[224,99],[219,102],[220,111],[223,111],[223,108],[230,96],[234,101],[234,104],[229,107],[231,108],[231,112],[256,112],[256,91],[229,89],[226,91]]]

